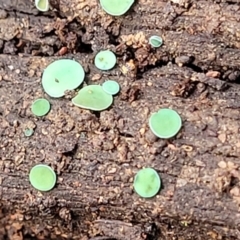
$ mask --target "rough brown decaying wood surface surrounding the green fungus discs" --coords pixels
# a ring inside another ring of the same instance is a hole
[[[118,18],[97,0],[51,4],[0,0],[0,239],[240,239],[240,1],[139,0]],[[151,35],[164,45],[151,49]],[[112,71],[94,67],[103,49]],[[83,65],[84,84],[118,81],[112,107],[49,98],[41,75],[59,58]],[[38,97],[52,105],[43,118],[30,111]],[[148,127],[162,107],[183,119],[168,141]],[[58,174],[48,193],[29,183],[37,163]],[[132,187],[143,167],[163,182],[150,200]]]

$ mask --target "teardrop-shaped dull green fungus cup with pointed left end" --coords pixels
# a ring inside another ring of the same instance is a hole
[[[112,102],[112,95],[106,93],[100,85],[88,85],[72,99],[75,106],[93,111],[105,110],[111,106]]]

